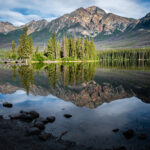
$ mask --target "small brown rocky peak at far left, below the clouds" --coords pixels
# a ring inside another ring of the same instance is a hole
[[[16,27],[13,26],[9,22],[0,22],[0,32],[1,33],[6,34],[6,33],[10,32],[10,31],[15,30],[15,29],[16,29]]]

